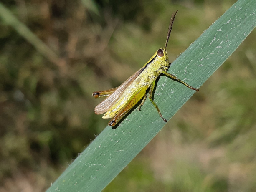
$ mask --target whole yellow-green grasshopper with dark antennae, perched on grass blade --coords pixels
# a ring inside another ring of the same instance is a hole
[[[171,63],[169,63],[168,60],[166,47],[177,11],[175,13],[172,13],[172,18],[170,20],[170,25],[167,33],[167,40],[164,48],[158,49],[142,68],[134,73],[129,79],[124,81],[124,83],[122,83],[122,85],[120,85],[119,87],[112,88],[106,91],[95,91],[92,93],[92,96],[94,96],[94,98],[107,97],[95,107],[94,112],[97,115],[105,113],[102,117],[103,119],[112,118],[111,121],[109,121],[109,126],[115,126],[132,109],[132,107],[143,98],[138,108],[140,111],[141,106],[144,104],[147,98],[146,91],[148,88],[150,88],[148,97],[151,103],[157,109],[160,117],[165,122],[167,122],[167,120],[162,116],[160,109],[152,100],[152,93],[155,87],[155,81],[160,74],[165,74],[166,76],[184,84],[188,88],[199,91],[197,88],[193,88],[192,86],[181,81],[174,75],[167,73],[167,70],[169,69]]]

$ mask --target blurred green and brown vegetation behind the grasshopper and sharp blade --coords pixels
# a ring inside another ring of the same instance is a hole
[[[1,1],[0,192],[40,192],[58,178],[107,125],[91,93],[119,86],[163,47],[173,11],[170,61],[235,2]],[[255,39],[104,192],[256,191]]]

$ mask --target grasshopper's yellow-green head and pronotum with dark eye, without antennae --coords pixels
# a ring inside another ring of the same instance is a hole
[[[153,71],[157,71],[160,68],[167,71],[170,67],[169,59],[167,56],[166,48],[158,49],[155,54],[150,58],[144,67],[151,68]]]

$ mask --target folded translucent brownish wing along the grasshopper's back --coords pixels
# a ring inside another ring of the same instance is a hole
[[[129,86],[129,84],[134,81],[134,79],[139,76],[139,74],[145,69],[145,67],[140,68],[136,73],[134,73],[129,79],[124,81],[110,96],[101,101],[94,109],[95,114],[103,114],[108,111],[111,106],[117,101],[117,99],[122,95],[123,91]]]

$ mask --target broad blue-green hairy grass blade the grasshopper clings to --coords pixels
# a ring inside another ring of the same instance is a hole
[[[172,63],[169,73],[199,88],[255,26],[256,1],[238,0]],[[170,119],[193,93],[184,85],[162,76],[157,83],[155,102],[162,115]],[[164,125],[147,100],[142,111],[134,110],[117,129],[112,130],[107,126],[52,184],[48,192],[101,191]]]

